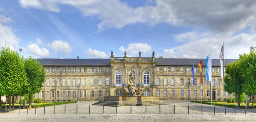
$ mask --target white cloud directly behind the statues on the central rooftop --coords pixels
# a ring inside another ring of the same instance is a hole
[[[128,55],[131,55],[131,56],[139,56],[139,51],[141,52],[141,56],[143,56],[143,53],[145,54],[151,54],[151,46],[148,45],[147,43],[130,43],[128,45],[128,48],[125,48],[123,46],[121,46],[119,48],[119,51],[121,51],[122,53],[125,52],[126,50],[126,53],[127,53],[127,56]]]

